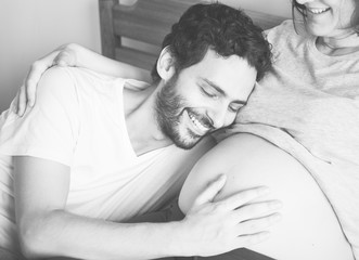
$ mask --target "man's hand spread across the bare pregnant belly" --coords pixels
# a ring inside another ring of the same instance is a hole
[[[278,200],[252,203],[268,193],[256,187],[213,202],[226,183],[220,176],[195,199],[182,221],[181,250],[196,256],[215,256],[236,248],[257,244],[268,237],[268,227],[278,222],[281,208]]]

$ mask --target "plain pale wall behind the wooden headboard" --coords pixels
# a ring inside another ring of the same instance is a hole
[[[221,1],[287,17],[291,14],[290,0]],[[100,51],[98,0],[0,0],[0,37],[1,112],[9,107],[35,60],[65,42]]]

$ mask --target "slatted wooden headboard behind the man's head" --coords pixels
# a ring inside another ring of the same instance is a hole
[[[138,0],[133,5],[118,0],[99,0],[102,54],[151,70],[164,37],[181,14],[201,0]],[[284,17],[244,10],[264,29]],[[125,44],[126,40],[130,43]],[[131,42],[132,40],[132,42]],[[149,44],[139,48],[141,44]]]

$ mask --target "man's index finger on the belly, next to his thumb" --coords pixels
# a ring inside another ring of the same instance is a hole
[[[254,187],[231,195],[219,202],[219,204],[221,205],[221,207],[223,207],[227,210],[233,210],[268,193],[269,193],[269,188],[266,186]]]

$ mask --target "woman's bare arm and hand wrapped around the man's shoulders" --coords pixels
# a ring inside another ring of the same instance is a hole
[[[14,106],[16,114],[22,116],[27,105],[35,105],[37,83],[42,74],[54,65],[85,67],[113,77],[151,81],[148,70],[102,56],[76,43],[64,44],[34,62],[24,84],[17,92],[17,104]]]

